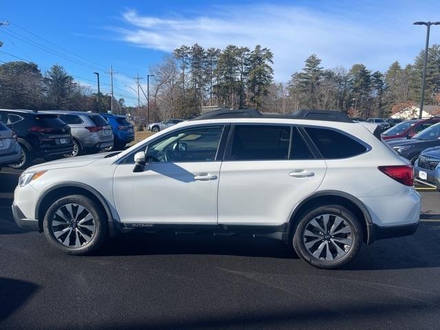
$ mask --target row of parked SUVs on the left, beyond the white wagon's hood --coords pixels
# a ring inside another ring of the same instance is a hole
[[[8,132],[0,135],[0,164],[12,168],[26,168],[35,158],[50,160],[123,148],[134,140],[133,126],[117,115],[0,109],[0,122],[6,129],[2,132]],[[12,155],[5,151],[3,161],[3,148],[9,150],[12,145],[3,141],[7,138],[17,140],[19,157],[11,160]]]

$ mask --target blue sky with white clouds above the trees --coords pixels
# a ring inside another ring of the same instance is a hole
[[[274,53],[274,80],[287,82],[305,58],[347,69],[364,63],[384,72],[393,61],[412,63],[424,47],[426,28],[440,21],[438,0],[423,1],[116,1],[0,0],[0,63],[32,61],[45,72],[63,65],[82,85],[110,89],[137,103],[135,77],[182,44],[224,48],[260,44]],[[430,44],[440,43],[440,25]],[[130,88],[131,87],[131,88]],[[145,102],[145,98],[141,98]]]

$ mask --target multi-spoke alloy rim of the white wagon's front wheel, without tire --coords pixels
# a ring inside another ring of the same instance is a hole
[[[96,221],[87,208],[69,203],[56,210],[50,228],[60,243],[68,248],[80,248],[93,239]]]

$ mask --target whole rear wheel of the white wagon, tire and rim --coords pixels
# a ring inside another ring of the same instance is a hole
[[[362,226],[342,206],[320,206],[305,212],[294,234],[301,259],[318,268],[332,269],[351,261],[362,243]]]

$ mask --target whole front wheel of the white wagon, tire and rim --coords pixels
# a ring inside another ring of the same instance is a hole
[[[67,254],[85,255],[105,241],[108,223],[95,201],[72,195],[50,206],[43,220],[43,230],[55,248]]]

